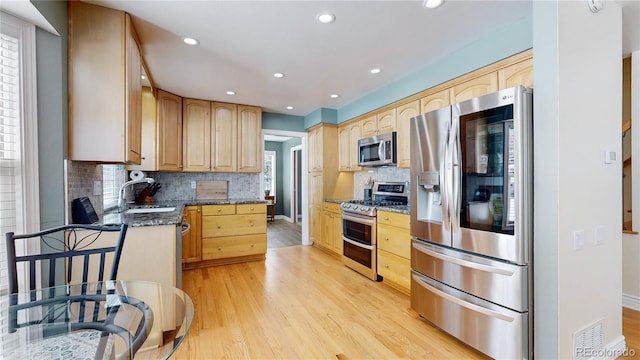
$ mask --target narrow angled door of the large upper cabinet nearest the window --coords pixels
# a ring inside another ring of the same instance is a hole
[[[140,164],[142,160],[142,58],[131,17],[125,16],[126,59],[126,162]]]

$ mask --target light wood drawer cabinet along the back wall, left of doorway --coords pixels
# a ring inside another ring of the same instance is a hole
[[[264,260],[266,204],[202,205],[199,214],[201,261],[183,263],[183,269]]]

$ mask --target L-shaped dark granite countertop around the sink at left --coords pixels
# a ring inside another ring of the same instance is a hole
[[[162,201],[153,204],[131,204],[129,208],[175,207],[173,211],[127,214],[115,210],[105,213],[99,223],[104,225],[125,223],[131,227],[178,225],[182,223],[182,212],[188,205],[222,205],[222,204],[266,204],[262,199],[227,199],[227,200],[176,200]]]

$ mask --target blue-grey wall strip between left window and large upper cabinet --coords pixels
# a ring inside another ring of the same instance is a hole
[[[60,36],[36,28],[40,226],[64,224],[64,159],[67,157],[67,3],[34,6]]]

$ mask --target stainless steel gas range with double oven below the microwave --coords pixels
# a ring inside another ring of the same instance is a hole
[[[351,200],[342,209],[342,263],[374,281],[382,280],[377,267],[377,209],[406,206],[407,183],[378,182],[372,199]]]

